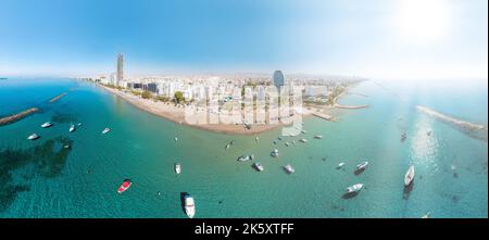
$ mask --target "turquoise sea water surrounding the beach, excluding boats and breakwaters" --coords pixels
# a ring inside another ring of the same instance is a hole
[[[294,138],[309,142],[285,147],[288,137],[273,144],[279,129],[255,142],[254,136],[184,127],[85,81],[0,80],[0,116],[42,109],[0,127],[0,217],[187,217],[180,192],[193,195],[196,217],[488,216],[487,140],[415,109],[421,104],[487,126],[487,80],[365,81],[351,92],[340,102],[371,108],[335,111],[336,123],[309,117],[308,134]],[[40,128],[48,121],[54,125]],[[70,134],[71,123],[83,126]],[[101,135],[104,127],[112,131]],[[26,140],[33,132],[41,138]],[[403,132],[408,138],[401,142]],[[231,139],[235,144],[225,150]],[[64,150],[64,143],[72,149]],[[274,148],[277,159],[269,156]],[[242,154],[254,154],[265,170],[237,162]],[[355,176],[363,160],[371,165]],[[183,164],[179,176],[176,162]],[[336,169],[340,162],[344,169]],[[287,175],[286,164],[296,173]],[[416,178],[405,191],[410,164]],[[134,184],[118,194],[125,178]],[[365,185],[360,194],[342,198],[356,182]]]

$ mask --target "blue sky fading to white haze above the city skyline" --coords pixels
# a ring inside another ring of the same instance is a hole
[[[488,76],[487,0],[0,0],[0,75]]]

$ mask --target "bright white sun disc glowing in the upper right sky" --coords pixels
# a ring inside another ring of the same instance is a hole
[[[401,0],[396,28],[403,38],[430,41],[442,38],[450,26],[448,0]]]

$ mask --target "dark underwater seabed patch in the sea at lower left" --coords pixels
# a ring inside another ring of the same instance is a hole
[[[30,189],[29,180],[35,176],[53,178],[60,176],[72,146],[70,138],[58,137],[47,140],[40,146],[25,150],[1,150],[0,151],[0,212],[5,211],[15,200],[17,194]],[[33,173],[23,174],[14,180],[15,170],[25,168]]]

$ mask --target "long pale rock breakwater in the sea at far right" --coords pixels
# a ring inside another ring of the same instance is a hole
[[[471,138],[487,142],[488,129],[487,129],[487,126],[485,126],[485,125],[461,121],[461,119],[439,113],[432,109],[422,106],[422,105],[417,105],[416,109],[417,109],[417,111],[419,111],[428,116],[431,116],[437,121],[446,123],[449,126],[455,127],[457,130],[466,134]]]

